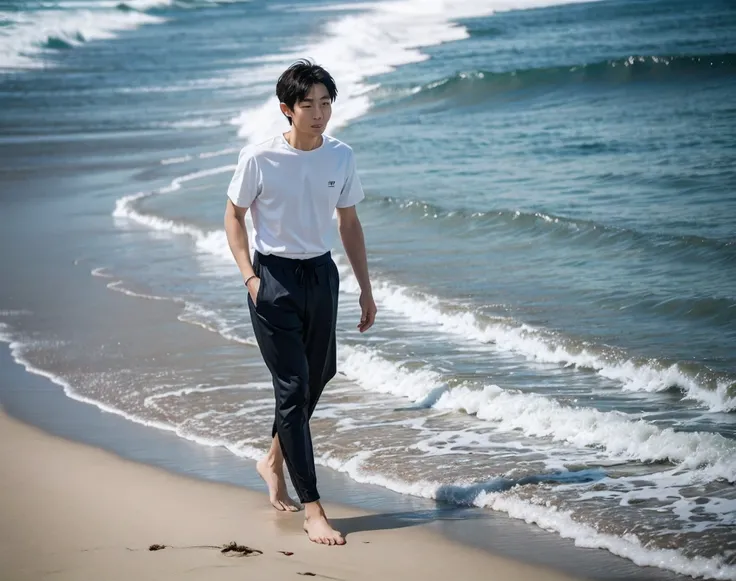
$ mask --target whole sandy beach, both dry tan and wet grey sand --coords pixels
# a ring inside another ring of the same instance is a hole
[[[127,308],[124,295],[112,297],[108,308]],[[191,327],[179,334],[203,337]],[[271,508],[255,462],[70,398],[14,362],[14,347],[0,349],[3,581],[262,579],[273,578],[264,573],[272,567],[276,578],[487,579],[492,570],[499,579],[684,579],[502,514],[390,493],[321,467],[325,506],[351,548],[314,545],[301,530],[303,513]],[[263,553],[222,553],[233,542]],[[323,552],[330,550],[337,553]],[[249,561],[251,569],[238,564],[256,557],[255,571]]]

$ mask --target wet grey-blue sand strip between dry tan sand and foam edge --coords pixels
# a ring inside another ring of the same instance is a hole
[[[102,448],[122,458],[205,481],[263,492],[255,462],[224,448],[211,448],[67,397],[51,380],[27,372],[0,347],[0,405],[11,417],[67,440]],[[431,527],[449,540],[495,555],[555,569],[595,581],[686,579],[667,571],[641,568],[606,551],[583,549],[536,526],[504,514],[460,508],[352,481],[317,467],[320,490],[331,503],[373,513],[400,513]],[[533,550],[530,548],[533,547]]]

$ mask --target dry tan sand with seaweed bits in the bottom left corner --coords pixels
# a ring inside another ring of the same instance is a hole
[[[278,513],[265,494],[130,462],[1,410],[0,467],[2,581],[571,579],[343,506],[326,509],[348,544],[315,545],[303,513]],[[261,553],[221,552],[231,541]]]

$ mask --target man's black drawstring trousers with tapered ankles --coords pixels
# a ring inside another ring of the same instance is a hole
[[[248,296],[253,330],[273,377],[279,435],[294,489],[301,502],[319,499],[314,470],[312,417],[322,390],[337,371],[337,296],[340,277],[328,252],[295,260],[256,252],[261,286]]]

